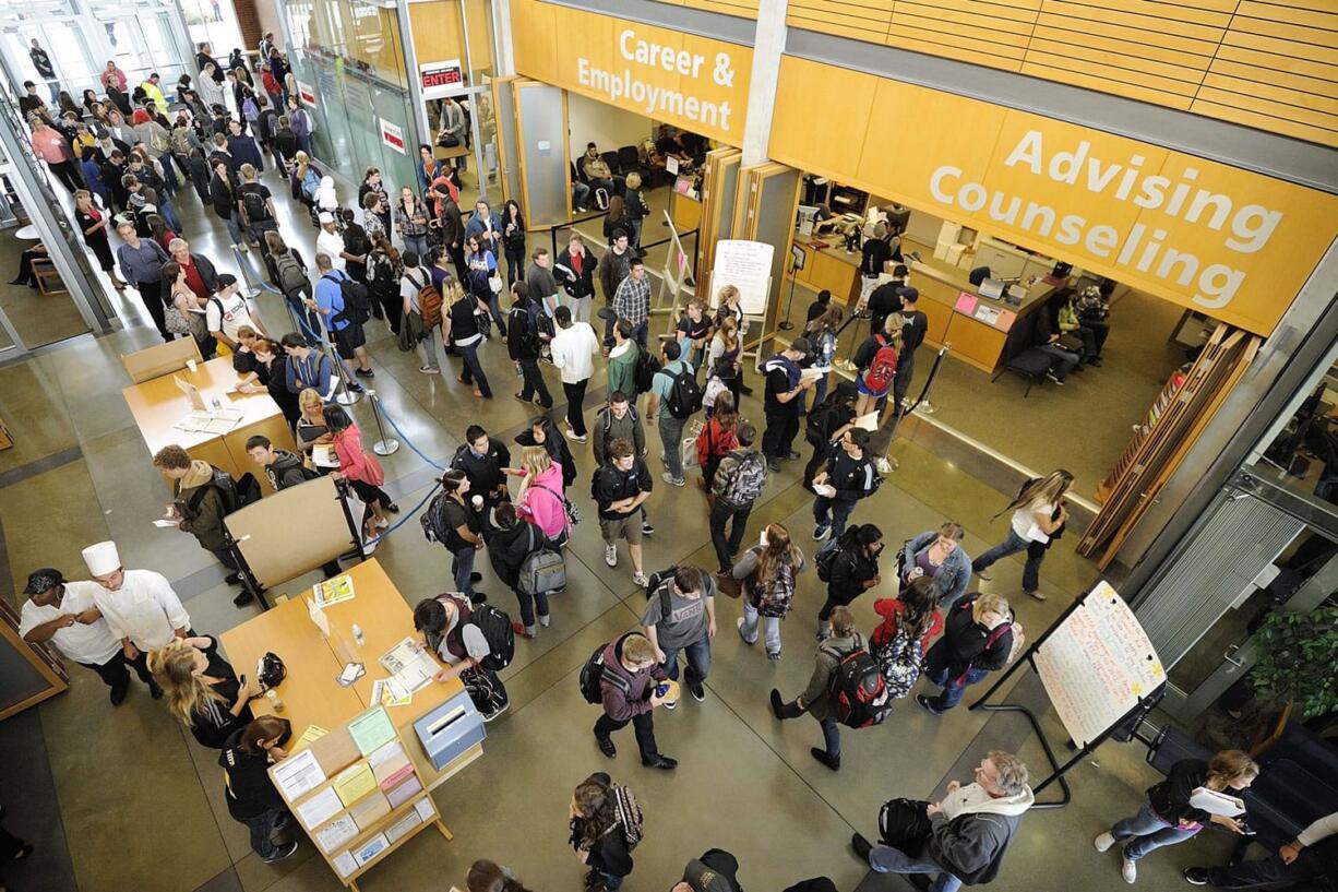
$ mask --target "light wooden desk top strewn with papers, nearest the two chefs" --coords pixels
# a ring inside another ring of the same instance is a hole
[[[308,613],[306,601],[312,589],[219,636],[238,675],[254,676],[256,663],[266,651],[284,660],[288,676],[276,688],[284,710],[276,713],[270,700],[261,698],[252,703],[252,711],[286,718],[293,723],[294,737],[312,725],[326,730],[336,727],[369,709],[373,704],[372,682],[388,675],[377,660],[404,638],[417,635],[412,608],[375,557],[349,569],[348,576],[353,580],[355,597],[324,608],[329,639],[321,635]],[[355,623],[363,629],[363,644],[353,640]],[[345,654],[367,668],[365,675],[349,687],[336,680],[344,670]],[[429,790],[483,755],[483,746],[476,745],[438,770],[413,731],[413,722],[463,690],[459,679],[432,682],[417,690],[409,703],[385,707],[405,741],[415,770]]]

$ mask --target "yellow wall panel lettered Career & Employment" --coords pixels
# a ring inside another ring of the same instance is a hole
[[[511,25],[515,64],[520,74],[732,146],[740,145],[752,72],[751,47],[539,0],[511,0]],[[628,31],[634,36],[625,38]],[[662,55],[657,56],[661,64],[626,59],[624,50],[636,52],[637,42],[673,50],[673,64],[684,64],[686,74],[677,67],[666,71]],[[594,75],[586,75],[582,82],[582,70],[610,72],[610,87],[603,88]],[[621,87],[624,78],[634,90],[646,92],[642,96],[611,95],[610,90],[614,84]],[[657,102],[661,91],[669,96],[685,96],[689,104],[678,113],[677,106]],[[688,114],[692,103],[700,103],[701,113],[696,117]]]

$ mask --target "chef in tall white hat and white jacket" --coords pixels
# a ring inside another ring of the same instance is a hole
[[[127,571],[120,565],[115,542],[98,542],[83,549],[88,575],[98,583],[94,604],[107,619],[111,634],[120,639],[126,662],[139,678],[149,680],[149,691],[163,695],[149,676],[149,651],[163,647],[175,638],[194,635],[190,615],[171,591],[167,577],[154,571]]]

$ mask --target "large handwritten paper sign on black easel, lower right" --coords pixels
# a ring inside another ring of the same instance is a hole
[[[1064,729],[1086,746],[1165,682],[1137,617],[1098,583],[1036,650],[1036,671]]]

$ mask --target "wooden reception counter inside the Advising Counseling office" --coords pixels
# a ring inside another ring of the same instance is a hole
[[[826,241],[815,248],[814,241]],[[859,299],[860,253],[847,254],[839,236],[814,238],[795,233],[795,244],[807,254],[797,280],[815,291],[831,291],[836,300],[852,307]],[[953,344],[951,356],[993,374],[1004,363],[1009,329],[1018,319],[1036,312],[1054,293],[1050,283],[1037,283],[1020,305],[982,297],[969,281],[967,271],[934,258],[934,249],[903,240],[903,252],[918,250],[913,260],[911,284],[919,291],[918,308],[929,317],[925,340],[933,346]]]

